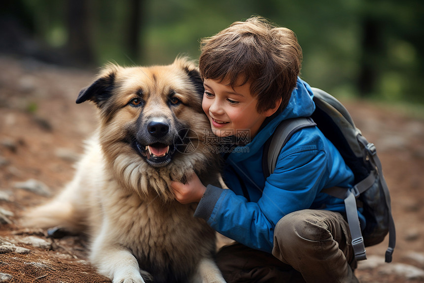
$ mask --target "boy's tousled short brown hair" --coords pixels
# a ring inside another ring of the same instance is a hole
[[[258,100],[256,111],[284,109],[300,73],[302,49],[293,31],[276,27],[261,17],[234,22],[200,45],[200,73],[204,79],[228,80],[231,87],[251,82],[250,93]]]

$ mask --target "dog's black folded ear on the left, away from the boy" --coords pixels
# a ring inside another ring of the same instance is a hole
[[[76,103],[91,100],[101,107],[111,95],[115,84],[116,71],[111,70],[106,75],[94,81],[91,85],[84,87],[76,98]]]

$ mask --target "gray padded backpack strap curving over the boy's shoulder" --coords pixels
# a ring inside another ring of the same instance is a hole
[[[278,156],[283,148],[283,146],[287,143],[287,141],[291,138],[291,136],[301,128],[311,127],[317,125],[311,118],[293,118],[282,121],[274,131],[272,135],[271,142],[265,145],[264,153],[268,155],[267,165],[268,171],[264,171],[268,173],[268,176],[274,172],[275,166],[277,164]]]

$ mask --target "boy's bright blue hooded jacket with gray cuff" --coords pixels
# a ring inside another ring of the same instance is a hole
[[[345,211],[343,200],[320,191],[332,186],[352,187],[353,173],[317,127],[294,133],[283,147],[274,172],[266,180],[262,171],[266,140],[281,121],[309,117],[315,110],[312,97],[310,86],[298,79],[283,112],[267,123],[246,146],[236,147],[228,155],[223,178],[230,190],[207,186],[196,217],[206,219],[224,236],[271,252],[274,228],[284,215],[307,208]],[[360,213],[359,217],[361,222],[365,221]]]

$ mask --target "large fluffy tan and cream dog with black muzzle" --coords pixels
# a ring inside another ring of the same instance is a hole
[[[86,233],[90,262],[113,283],[225,282],[212,260],[215,232],[193,217],[196,203],[177,202],[170,189],[192,173],[204,184],[219,178],[203,91],[185,58],[104,67],[76,99],[93,102],[100,123],[73,179],[24,223]]]

